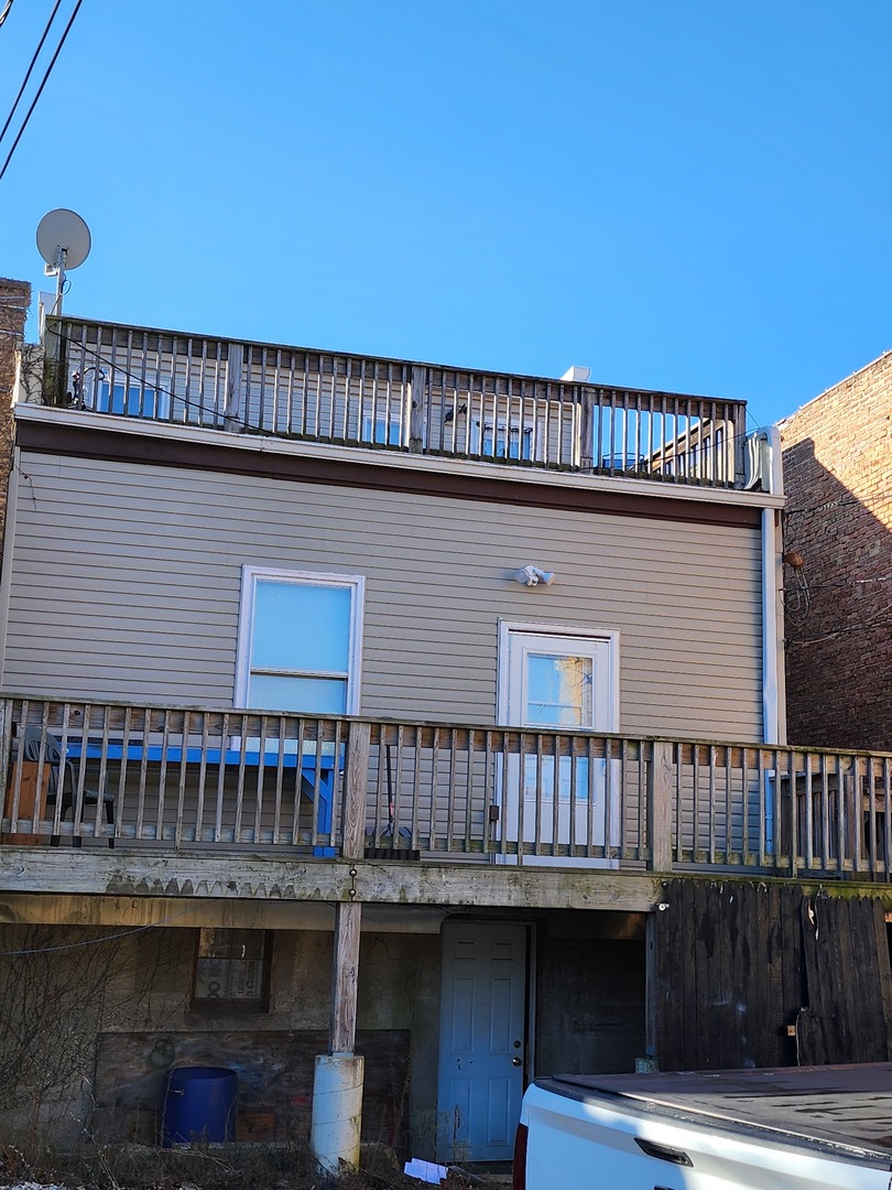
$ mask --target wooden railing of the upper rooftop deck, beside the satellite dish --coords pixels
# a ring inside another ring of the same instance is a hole
[[[121,418],[742,487],[746,405],[69,318],[43,400]]]

